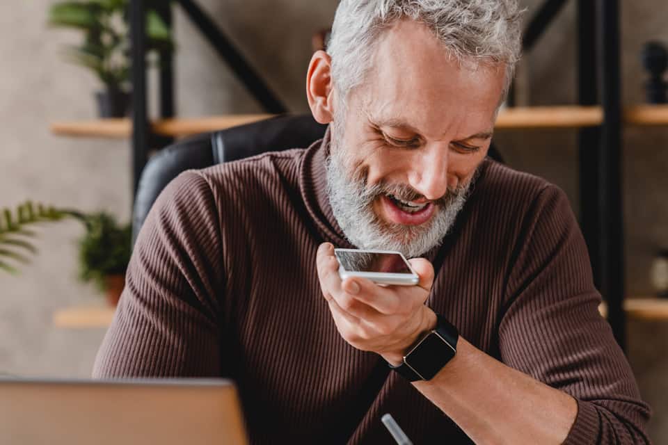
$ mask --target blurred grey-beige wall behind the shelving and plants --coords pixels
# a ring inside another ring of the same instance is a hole
[[[50,0],[0,2],[0,207],[27,198],[84,211],[104,209],[129,218],[130,153],[125,140],[75,140],[49,134],[54,120],[92,118],[88,72],[63,63],[68,31],[46,29]],[[303,94],[310,37],[331,22],[335,0],[207,0],[218,19],[292,111],[306,111]],[[523,4],[535,10],[538,0]],[[574,2],[571,2],[574,3]],[[668,43],[668,6],[661,0],[622,1],[624,102],[643,101],[643,42]],[[532,104],[575,101],[575,10],[569,6],[523,61]],[[181,15],[177,106],[184,116],[255,113],[260,108]],[[152,101],[155,109],[155,100]],[[668,247],[668,127],[625,129],[624,206],[627,291],[651,293],[648,268],[655,248]],[[511,165],[548,178],[578,209],[574,131],[503,131],[496,136]],[[59,330],[51,315],[62,307],[101,304],[92,286],[76,280],[74,222],[40,228],[40,254],[19,277],[0,274],[0,372],[15,375],[86,376],[103,330]],[[668,440],[668,323],[631,321],[629,358],[644,397],[655,408],[651,434]]]

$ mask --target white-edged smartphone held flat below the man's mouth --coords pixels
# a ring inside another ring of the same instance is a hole
[[[378,284],[415,286],[420,281],[411,264],[400,252],[391,250],[334,249],[341,280],[368,278]]]

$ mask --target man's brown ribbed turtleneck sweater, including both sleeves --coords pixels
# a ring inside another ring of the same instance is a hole
[[[379,355],[336,330],[316,250],[354,246],[328,203],[327,149],[325,140],[172,181],[138,236],[93,374],[231,378],[254,444],[392,444],[387,412],[415,444],[470,444]],[[485,160],[450,234],[426,256],[436,270],[429,307],[480,350],[578,401],[566,444],[649,442],[649,407],[598,313],[559,188]]]

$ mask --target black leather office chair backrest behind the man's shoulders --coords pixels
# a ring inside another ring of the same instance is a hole
[[[326,128],[310,115],[285,115],[194,136],[162,149],[148,161],[139,179],[132,216],[133,245],[158,195],[181,172],[269,151],[308,147],[324,136]],[[494,147],[489,156],[501,161]]]

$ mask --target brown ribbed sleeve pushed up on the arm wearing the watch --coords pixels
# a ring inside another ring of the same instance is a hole
[[[649,443],[649,406],[598,312],[601,296],[566,195],[544,188],[521,233],[500,323],[502,361],[575,398],[565,444]]]

